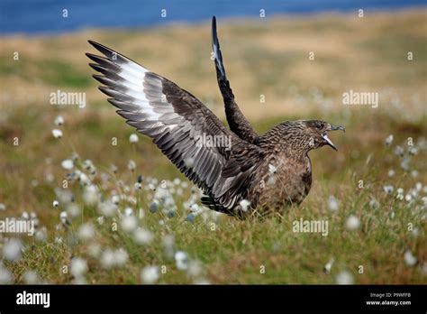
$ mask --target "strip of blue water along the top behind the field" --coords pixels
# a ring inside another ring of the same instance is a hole
[[[427,5],[427,0],[0,0],[0,33],[54,34],[97,27],[152,27],[221,17],[395,10]],[[62,16],[68,10],[68,18]],[[167,17],[161,17],[161,10]]]

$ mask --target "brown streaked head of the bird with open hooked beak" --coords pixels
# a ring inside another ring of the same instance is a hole
[[[324,145],[337,147],[328,137],[328,132],[345,128],[341,125],[331,125],[320,120],[286,121],[279,126],[280,142],[291,152],[310,152]]]

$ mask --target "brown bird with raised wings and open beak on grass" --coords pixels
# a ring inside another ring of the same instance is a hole
[[[190,92],[98,42],[86,53],[93,77],[117,114],[147,135],[204,196],[201,203],[234,217],[265,217],[303,202],[312,186],[308,153],[342,130],[321,120],[285,121],[258,134],[241,113],[227,79],[212,19],[212,50],[227,128]]]

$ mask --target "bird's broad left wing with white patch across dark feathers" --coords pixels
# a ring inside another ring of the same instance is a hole
[[[94,78],[104,85],[100,90],[111,97],[108,101],[119,108],[117,113],[150,136],[179,171],[214,200],[215,209],[229,212],[245,198],[259,147],[232,134],[197,98],[167,78],[89,42],[104,54],[86,53],[95,61],[90,66],[103,74]]]

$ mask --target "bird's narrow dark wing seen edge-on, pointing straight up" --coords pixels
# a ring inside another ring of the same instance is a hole
[[[227,116],[227,122],[230,125],[232,132],[237,134],[241,139],[254,143],[255,139],[259,137],[248,120],[241,113],[241,109],[237,106],[234,101],[234,95],[232,94],[232,88],[230,82],[225,75],[225,69],[223,65],[223,54],[220,49],[220,42],[216,33],[216,19],[212,18],[212,50],[213,59],[215,61],[216,78],[218,80],[218,86],[223,94],[223,101],[225,105],[225,115]]]

